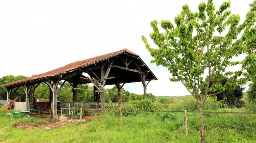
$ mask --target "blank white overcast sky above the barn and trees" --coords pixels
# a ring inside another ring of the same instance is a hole
[[[150,64],[152,57],[141,36],[145,35],[154,48],[149,37],[150,22],[166,18],[174,24],[182,5],[188,4],[191,12],[198,12],[200,2],[203,0],[1,0],[0,77],[42,74],[127,48],[140,55],[158,78],[148,84],[147,93],[188,95],[181,82],[170,82],[171,74],[166,68]],[[213,2],[216,9],[223,3]],[[251,2],[231,0],[230,10],[243,21]],[[125,84],[124,88],[143,94],[141,82]]]

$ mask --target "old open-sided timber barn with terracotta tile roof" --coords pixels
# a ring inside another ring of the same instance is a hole
[[[87,73],[90,78],[83,76],[82,73]],[[64,82],[57,91],[58,83],[62,80]],[[145,99],[146,87],[151,80],[157,80],[157,78],[140,56],[127,49],[123,49],[95,58],[67,64],[43,74],[0,85],[0,87],[6,88],[8,102],[17,89],[22,86],[26,94],[26,110],[29,110],[28,106],[31,91],[33,92],[41,82],[44,82],[51,89],[50,95],[52,96],[50,97],[50,101],[53,101],[53,115],[56,115],[57,96],[65,82],[69,82],[73,88],[76,88],[79,84],[93,82],[96,90],[102,90],[104,85],[114,84],[117,85],[119,92],[125,83],[142,82]],[[122,84],[121,88],[120,84]],[[32,89],[33,85],[34,88]],[[76,101],[75,97],[75,92],[73,92],[73,101]],[[94,99],[97,101],[96,94]],[[101,103],[104,104],[104,102],[105,95],[101,93]],[[102,108],[104,108],[104,106]]]

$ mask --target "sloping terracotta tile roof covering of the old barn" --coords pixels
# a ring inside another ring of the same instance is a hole
[[[6,87],[6,86],[13,85],[13,84],[18,84],[18,83],[22,83],[22,82],[31,81],[31,80],[37,80],[37,79],[54,77],[54,76],[57,76],[59,74],[68,72],[70,70],[77,69],[79,67],[88,66],[88,65],[100,62],[102,60],[114,57],[114,56],[116,56],[118,54],[121,54],[121,53],[124,53],[124,52],[130,53],[132,55],[135,55],[135,56],[139,57],[139,55],[137,55],[136,53],[133,53],[133,52],[127,50],[127,49],[123,49],[123,50],[120,50],[120,51],[116,51],[116,52],[100,55],[100,56],[97,56],[97,57],[94,57],[94,58],[90,58],[90,59],[87,59],[87,60],[73,62],[71,64],[67,64],[65,66],[62,66],[60,68],[51,70],[51,71],[43,73],[43,74],[35,75],[35,76],[29,77],[29,78],[25,78],[25,79],[22,79],[22,80],[18,80],[18,81],[14,81],[14,82],[11,82],[11,83],[8,83],[8,84],[0,85],[0,87]]]

